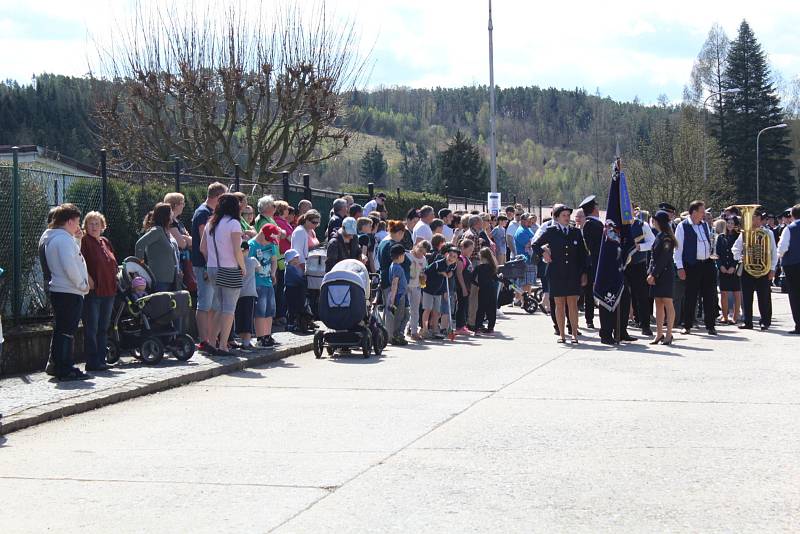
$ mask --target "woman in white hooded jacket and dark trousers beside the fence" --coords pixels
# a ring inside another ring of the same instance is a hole
[[[90,281],[81,255],[81,212],[73,204],[53,208],[47,230],[39,239],[39,258],[48,280],[53,307],[53,338],[47,373],[60,381],[86,380],[89,375],[75,367],[72,348]]]

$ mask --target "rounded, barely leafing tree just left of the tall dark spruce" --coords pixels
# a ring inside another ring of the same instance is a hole
[[[684,107],[676,124],[656,125],[650,140],[628,160],[631,197],[655,209],[669,202],[680,209],[702,199],[721,209],[732,202],[734,188],[725,179],[725,160],[713,137],[706,141],[708,180],[703,180],[703,123],[697,111]]]

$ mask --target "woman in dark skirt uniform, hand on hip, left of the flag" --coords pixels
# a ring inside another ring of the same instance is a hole
[[[573,327],[572,343],[578,342],[578,297],[583,292],[582,287],[588,282],[589,254],[581,231],[569,225],[571,213],[572,209],[567,206],[557,205],[553,210],[555,224],[533,243],[534,249],[546,247],[546,255],[550,257],[547,272],[550,295],[556,301],[559,343],[566,343],[564,323],[567,309]]]

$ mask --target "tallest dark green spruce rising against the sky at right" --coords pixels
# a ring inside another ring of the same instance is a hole
[[[770,79],[766,54],[747,21],[742,21],[739,35],[731,43],[723,85],[725,89],[740,89],[723,101],[728,122],[720,145],[729,161],[728,177],[736,185],[739,202],[755,202],[756,136],[761,129],[784,122],[785,117]],[[788,128],[761,136],[760,196],[761,204],[768,209],[783,209],[797,197],[791,151]]]

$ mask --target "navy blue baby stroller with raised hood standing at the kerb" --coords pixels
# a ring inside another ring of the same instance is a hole
[[[370,302],[371,277],[358,260],[343,260],[325,275],[320,287],[319,317],[327,327],[314,334],[314,355],[323,349],[332,356],[337,349],[345,353],[360,348],[364,358],[372,351],[380,356],[388,333]]]

